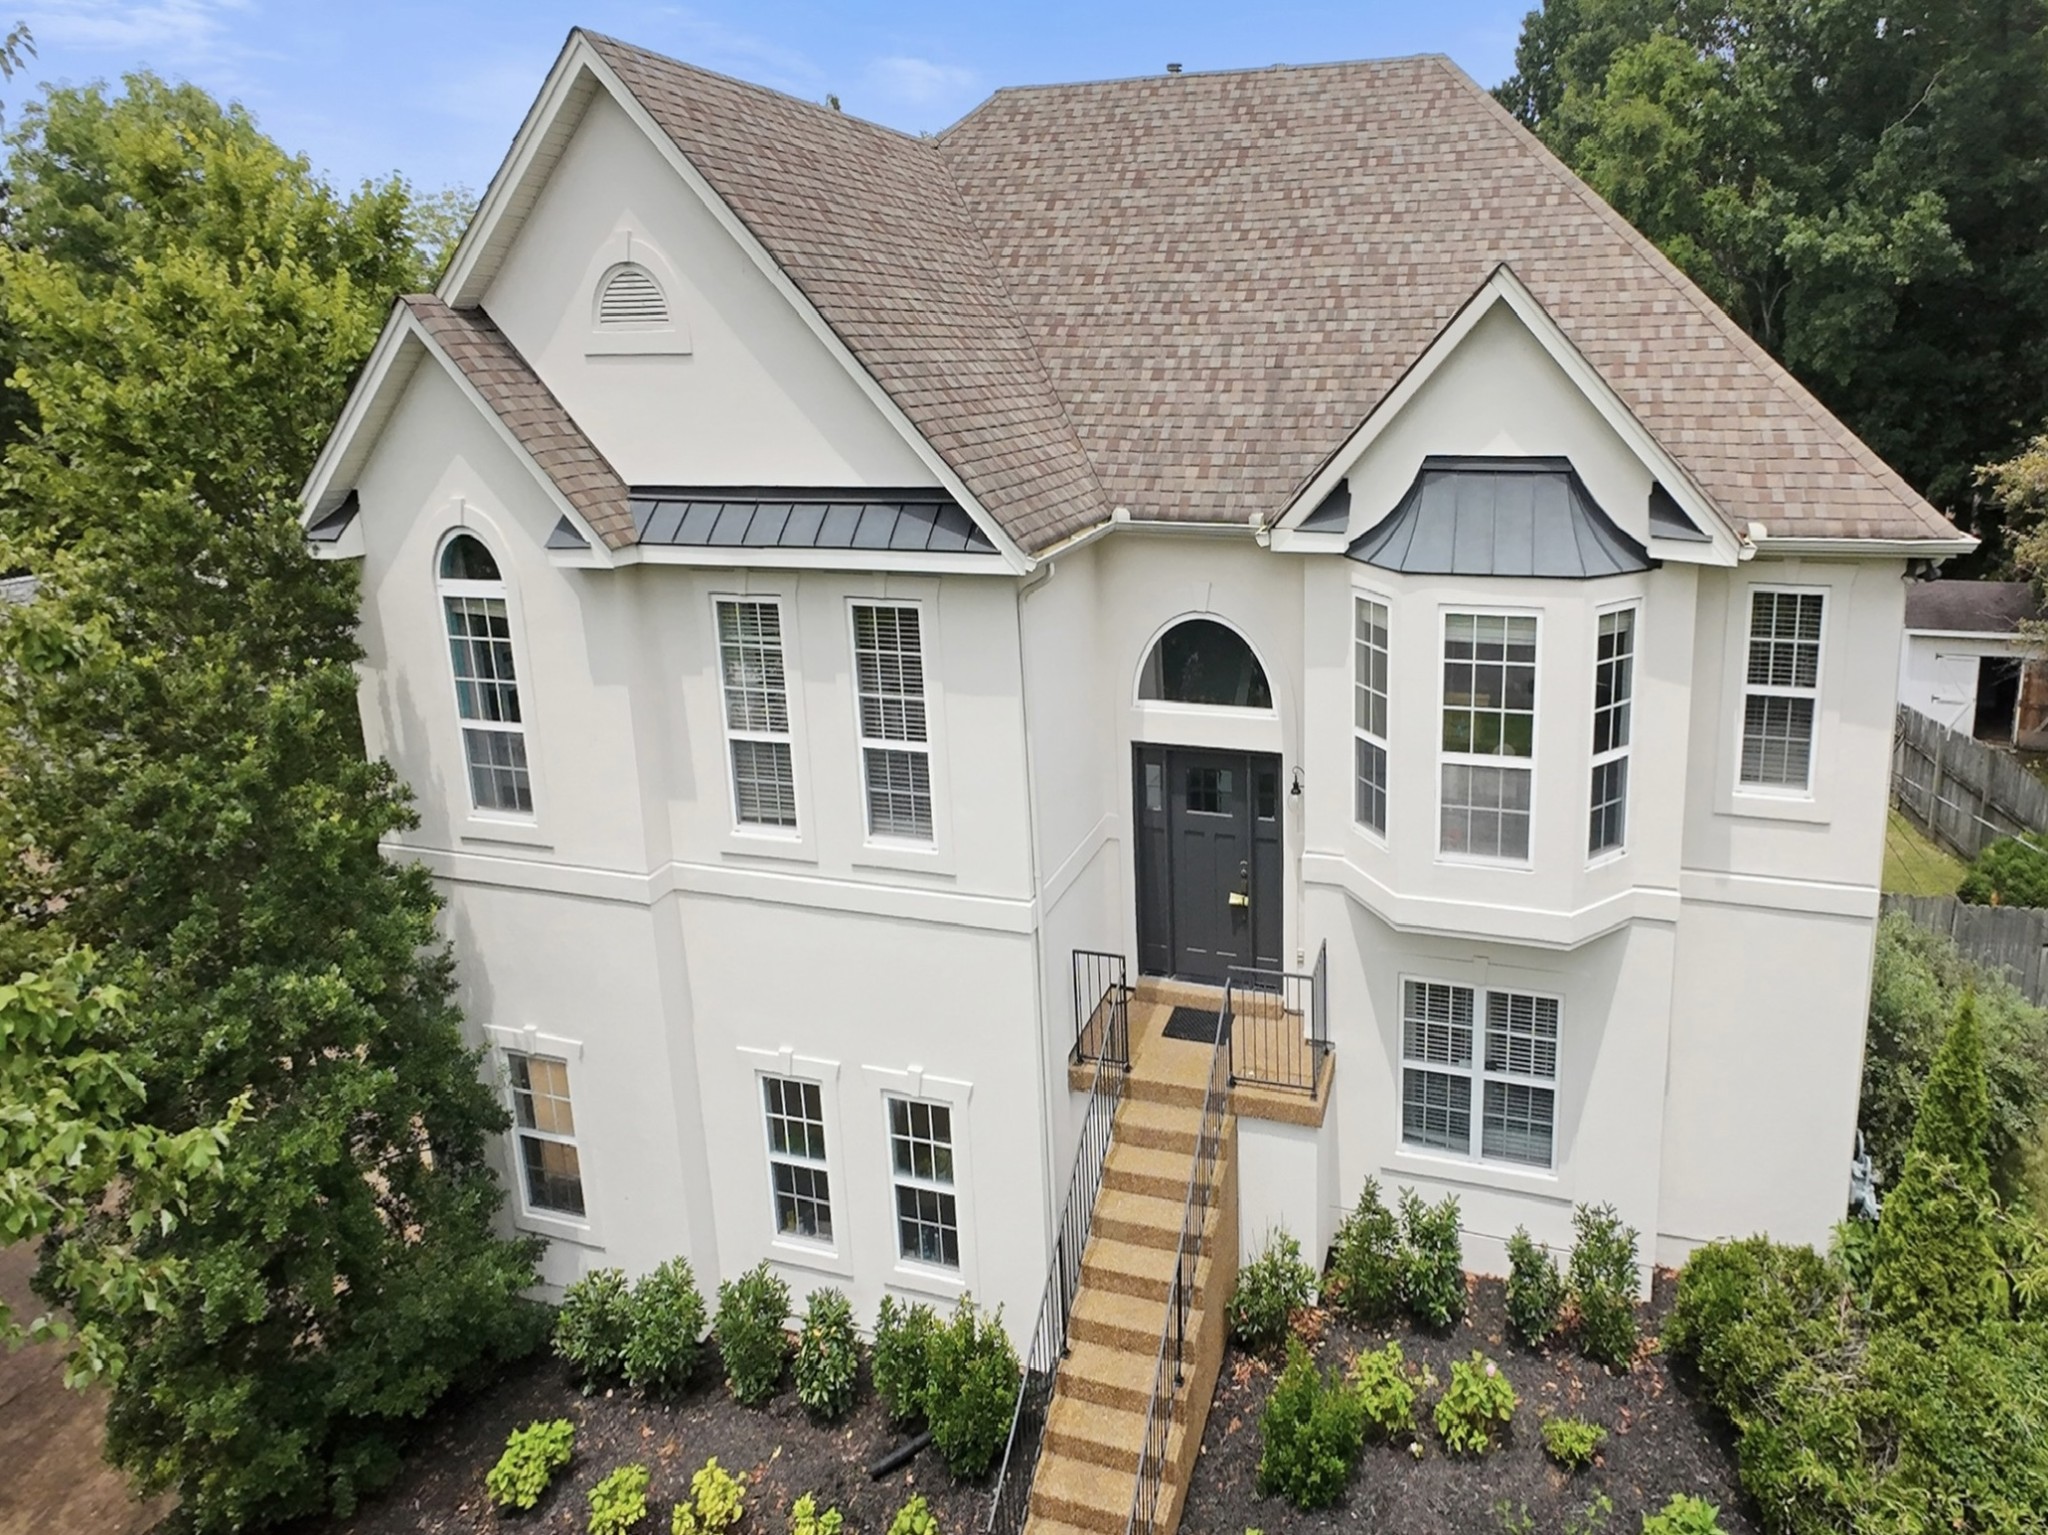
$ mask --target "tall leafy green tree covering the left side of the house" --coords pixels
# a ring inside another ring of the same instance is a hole
[[[37,1285],[113,1382],[109,1455],[193,1525],[346,1508],[537,1336],[436,898],[379,851],[410,808],[362,755],[354,573],[293,506],[428,219],[150,76],[47,92],[8,170],[0,567],[41,587],[0,622],[0,972],[59,976],[39,1007],[74,1015],[90,946],[121,1007],[57,1036],[109,1036],[106,1085],[43,1113],[111,1173],[41,1203]],[[47,1079],[0,1072],[0,1120]],[[158,1144],[176,1187],[123,1175]]]

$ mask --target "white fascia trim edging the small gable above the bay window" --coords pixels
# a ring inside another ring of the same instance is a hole
[[[1665,452],[1663,444],[1651,436],[1651,430],[1636,420],[1636,413],[1628,409],[1614,387],[1599,377],[1599,370],[1585,360],[1571,338],[1559,327],[1550,317],[1550,311],[1542,307],[1534,293],[1530,293],[1522,278],[1518,278],[1505,264],[1493,268],[1489,276],[1450,323],[1438,332],[1436,340],[1423,348],[1423,354],[1409,364],[1407,372],[1395,383],[1393,389],[1380,399],[1378,405],[1358,424],[1343,444],[1323,461],[1323,467],[1315,473],[1315,479],[1303,487],[1286,512],[1274,522],[1274,549],[1282,553],[1311,553],[1323,551],[1329,544],[1317,538],[1313,544],[1292,542],[1294,524],[1305,520],[1309,512],[1323,503],[1337,481],[1343,479],[1358,458],[1364,456],[1366,448],[1393,424],[1393,420],[1407,407],[1421,387],[1430,383],[1440,366],[1458,350],[1458,344],[1473,334],[1473,327],[1485,319],[1495,305],[1505,303],[1516,317],[1524,323],[1536,344],[1550,356],[1565,377],[1571,379],[1579,393],[1585,395],[1587,403],[1599,411],[1602,420],[1614,434],[1628,444],[1628,448],[1642,461],[1642,467],[1657,477],[1657,481],[1671,493],[1683,510],[1686,516],[1694,520],[1696,526],[1708,532],[1710,544],[1700,549],[1683,540],[1655,538],[1651,542],[1651,553],[1657,559],[1677,561],[1677,563],[1698,563],[1698,565],[1735,565],[1739,542],[1729,526],[1729,518],[1718,506],[1698,487],[1690,473]],[[1315,534],[1309,534],[1315,536]]]

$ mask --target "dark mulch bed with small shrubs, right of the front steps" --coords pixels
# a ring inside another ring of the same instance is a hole
[[[1653,1300],[1640,1308],[1645,1339],[1657,1334],[1671,1308],[1671,1277],[1659,1275]],[[1516,1388],[1520,1404],[1505,1443],[1473,1459],[1456,1457],[1430,1427],[1436,1392],[1417,1402],[1423,1455],[1405,1445],[1366,1445],[1350,1488],[1333,1508],[1298,1512],[1284,1498],[1257,1492],[1260,1412],[1274,1388],[1280,1359],[1255,1357],[1235,1345],[1223,1357],[1217,1400],[1202,1435],[1182,1517],[1184,1535],[1309,1535],[1354,1527],[1372,1535],[1634,1535],[1642,1515],[1657,1512],[1673,1492],[1692,1492],[1720,1506],[1729,1535],[1759,1535],[1761,1525],[1735,1478],[1735,1449],[1663,1353],[1642,1351],[1626,1375],[1610,1375],[1581,1359],[1569,1343],[1528,1351],[1507,1339],[1507,1296],[1497,1279],[1470,1281],[1464,1320],[1446,1336],[1405,1322],[1364,1328],[1337,1314],[1311,1349],[1323,1369],[1341,1367],[1360,1349],[1389,1336],[1409,1363],[1425,1363],[1438,1382],[1450,1379],[1452,1359],[1483,1351]],[[1544,1414],[1589,1418],[1608,1431],[1599,1461],[1567,1474],[1544,1455],[1538,1420]],[[1595,1498],[1614,1508],[1589,1523]]]

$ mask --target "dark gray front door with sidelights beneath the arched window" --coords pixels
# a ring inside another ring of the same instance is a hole
[[[1137,747],[1139,968],[1280,968],[1280,759]]]

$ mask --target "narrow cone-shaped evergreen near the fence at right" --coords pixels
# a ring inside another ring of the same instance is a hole
[[[1870,1308],[1888,1324],[1939,1339],[1989,1320],[1999,1273],[1989,1130],[1985,1046],[1966,993],[1927,1072],[1905,1177],[1878,1222]]]

